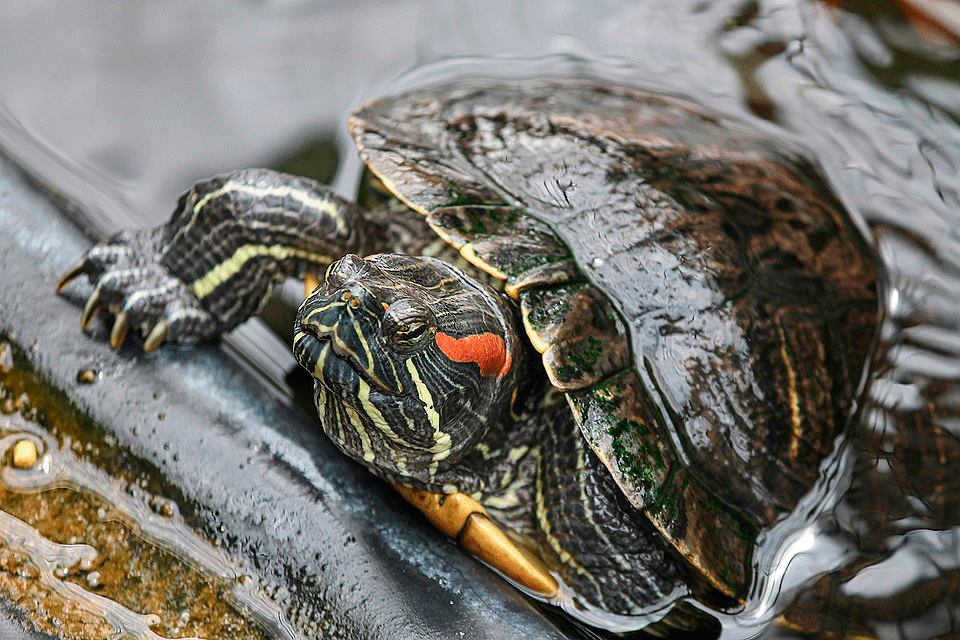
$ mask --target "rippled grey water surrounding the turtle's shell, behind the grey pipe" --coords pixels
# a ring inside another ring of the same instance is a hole
[[[164,220],[196,178],[280,165],[307,144],[339,148],[334,184],[349,195],[350,108],[477,69],[588,70],[793,138],[876,249],[882,337],[860,420],[809,503],[767,535],[763,578],[743,612],[721,616],[724,633],[957,633],[960,47],[892,3],[847,6],[8,3],[0,144],[102,234]],[[255,326],[235,338],[253,342]],[[268,345],[256,366],[280,377],[292,360]]]

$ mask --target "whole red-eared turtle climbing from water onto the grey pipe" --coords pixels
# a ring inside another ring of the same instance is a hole
[[[415,501],[478,501],[581,613],[736,606],[875,328],[869,252],[809,163],[586,79],[418,90],[351,130],[409,209],[266,170],[199,182],[64,275],[96,281],[84,326],[106,308],[115,346],[131,327],[148,350],[214,338],[325,270],[294,352],[344,452]]]

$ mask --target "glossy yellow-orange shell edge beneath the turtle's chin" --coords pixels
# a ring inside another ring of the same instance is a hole
[[[437,529],[517,584],[545,598],[557,595],[556,579],[500,529],[479,502],[464,493],[431,493],[393,485]]]

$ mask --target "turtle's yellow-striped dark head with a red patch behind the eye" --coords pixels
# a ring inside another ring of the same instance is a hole
[[[443,472],[509,412],[520,349],[509,303],[425,257],[345,256],[294,327],[327,435],[387,480],[433,491],[463,490]]]

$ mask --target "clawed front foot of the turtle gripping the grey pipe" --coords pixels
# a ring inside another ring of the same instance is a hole
[[[221,331],[189,287],[158,261],[153,231],[122,231],[92,247],[57,281],[60,291],[86,275],[94,285],[80,317],[86,330],[102,312],[115,315],[110,344],[119,348],[131,329],[144,336],[144,351],[164,342],[200,342]]]

